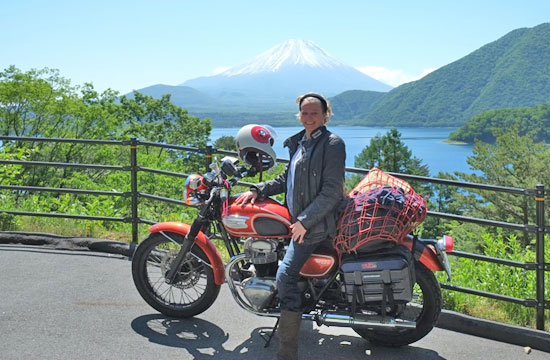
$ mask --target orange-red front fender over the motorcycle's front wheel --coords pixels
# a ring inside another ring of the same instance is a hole
[[[158,233],[161,231],[173,232],[185,236],[189,232],[190,228],[191,225],[181,222],[163,222],[151,226],[149,228],[149,231],[152,233]],[[212,265],[212,271],[214,272],[214,282],[216,283],[216,285],[223,284],[225,281],[225,270],[219,250],[216,248],[216,246],[214,246],[212,241],[210,241],[208,237],[204,235],[202,231],[197,234],[195,244],[197,244],[208,257],[208,261],[210,261],[210,264]]]

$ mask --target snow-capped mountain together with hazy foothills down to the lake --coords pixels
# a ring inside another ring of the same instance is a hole
[[[391,89],[311,41],[288,40],[218,75],[137,91],[154,98],[170,94],[174,104],[195,116],[209,117],[215,126],[257,121],[283,126],[296,123],[295,100],[300,94],[333,97],[348,90],[367,90],[383,96]]]

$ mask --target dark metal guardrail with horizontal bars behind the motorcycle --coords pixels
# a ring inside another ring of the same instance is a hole
[[[98,191],[98,190],[82,190],[82,189],[66,189],[66,188],[48,188],[48,187],[36,187],[36,186],[14,186],[14,185],[0,185],[0,190],[11,191],[47,191],[58,193],[74,193],[74,194],[89,194],[89,195],[106,195],[106,196],[119,196],[131,198],[130,216],[128,217],[106,217],[106,216],[89,216],[89,215],[74,215],[74,214],[57,214],[57,213],[38,213],[38,212],[25,212],[25,211],[13,211],[13,210],[0,210],[0,213],[7,213],[16,216],[41,216],[41,217],[56,217],[56,218],[70,218],[70,219],[83,219],[83,220],[101,220],[101,221],[119,221],[132,224],[132,241],[138,241],[138,225],[154,224],[154,221],[141,219],[138,216],[139,198],[151,199],[156,201],[162,201],[172,203],[176,205],[186,205],[185,202],[177,199],[166,198],[157,195],[151,195],[141,193],[138,191],[138,172],[148,172],[153,174],[168,175],[174,177],[185,178],[188,174],[176,173],[171,171],[165,171],[160,169],[151,169],[147,167],[140,167],[137,162],[137,149],[138,146],[152,146],[165,149],[172,149],[178,151],[189,151],[202,153],[205,155],[206,168],[212,162],[213,154],[223,155],[237,155],[236,152],[217,150],[211,146],[206,148],[196,148],[189,146],[179,146],[172,144],[162,144],[148,141],[139,141],[136,138],[132,138],[130,141],[111,141],[111,140],[92,140],[92,139],[59,139],[59,138],[31,138],[31,137],[16,137],[16,136],[1,136],[0,141],[32,141],[32,142],[61,142],[61,143],[81,143],[89,145],[117,145],[117,146],[129,146],[130,147],[130,159],[129,166],[114,166],[114,165],[98,165],[98,164],[75,164],[75,163],[61,163],[61,162],[44,162],[44,161],[21,161],[21,160],[0,160],[0,165],[21,165],[21,166],[51,166],[51,167],[70,167],[70,168],[82,168],[82,169],[102,169],[111,171],[125,171],[130,172],[131,177],[131,191],[129,192],[117,192],[117,191]],[[288,159],[277,159],[282,163],[288,163]],[[348,167],[347,172],[356,174],[366,174],[368,170]],[[431,178],[425,176],[416,176],[409,174],[391,173],[389,174],[397,176],[405,180],[416,180],[421,182],[429,182],[434,184],[451,185],[462,188],[471,188],[477,190],[488,190],[501,193],[509,193],[523,196],[534,196],[536,202],[536,224],[514,224],[502,221],[488,220],[473,218],[467,216],[461,216],[456,214],[447,214],[428,211],[428,216],[434,216],[444,219],[451,219],[464,222],[472,222],[488,226],[497,226],[507,228],[511,230],[519,230],[527,233],[536,234],[536,262],[534,263],[522,263],[517,261],[510,261],[506,259],[499,259],[488,257],[480,254],[466,253],[462,251],[453,251],[450,255],[457,257],[469,258],[479,261],[487,261],[496,263],[499,265],[519,267],[526,271],[536,271],[536,299],[519,299],[509,297],[501,294],[495,294],[476,289],[469,289],[465,287],[459,287],[450,284],[441,284],[441,287],[448,290],[459,291],[472,295],[507,301],[511,303],[520,304],[526,307],[536,308],[536,327],[539,330],[544,330],[544,310],[550,309],[550,302],[545,301],[544,298],[544,277],[545,272],[550,271],[550,264],[545,262],[544,259],[544,235],[546,234],[545,219],[544,219],[544,207],[545,207],[545,188],[544,185],[537,185],[535,189],[522,189],[511,188],[497,185],[467,183],[456,180],[446,180]],[[241,182],[243,185],[250,185],[250,183]]]

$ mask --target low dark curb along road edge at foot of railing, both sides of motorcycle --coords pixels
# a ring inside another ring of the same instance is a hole
[[[127,257],[133,255],[136,247],[136,244],[105,239],[16,231],[0,232],[0,244],[48,246],[61,250],[89,250]],[[475,318],[450,310],[441,311],[436,326],[446,330],[550,352],[550,333],[541,330]]]

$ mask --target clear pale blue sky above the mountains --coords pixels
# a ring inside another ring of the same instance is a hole
[[[0,70],[49,67],[126,93],[304,39],[396,86],[544,22],[548,0],[0,0]]]

